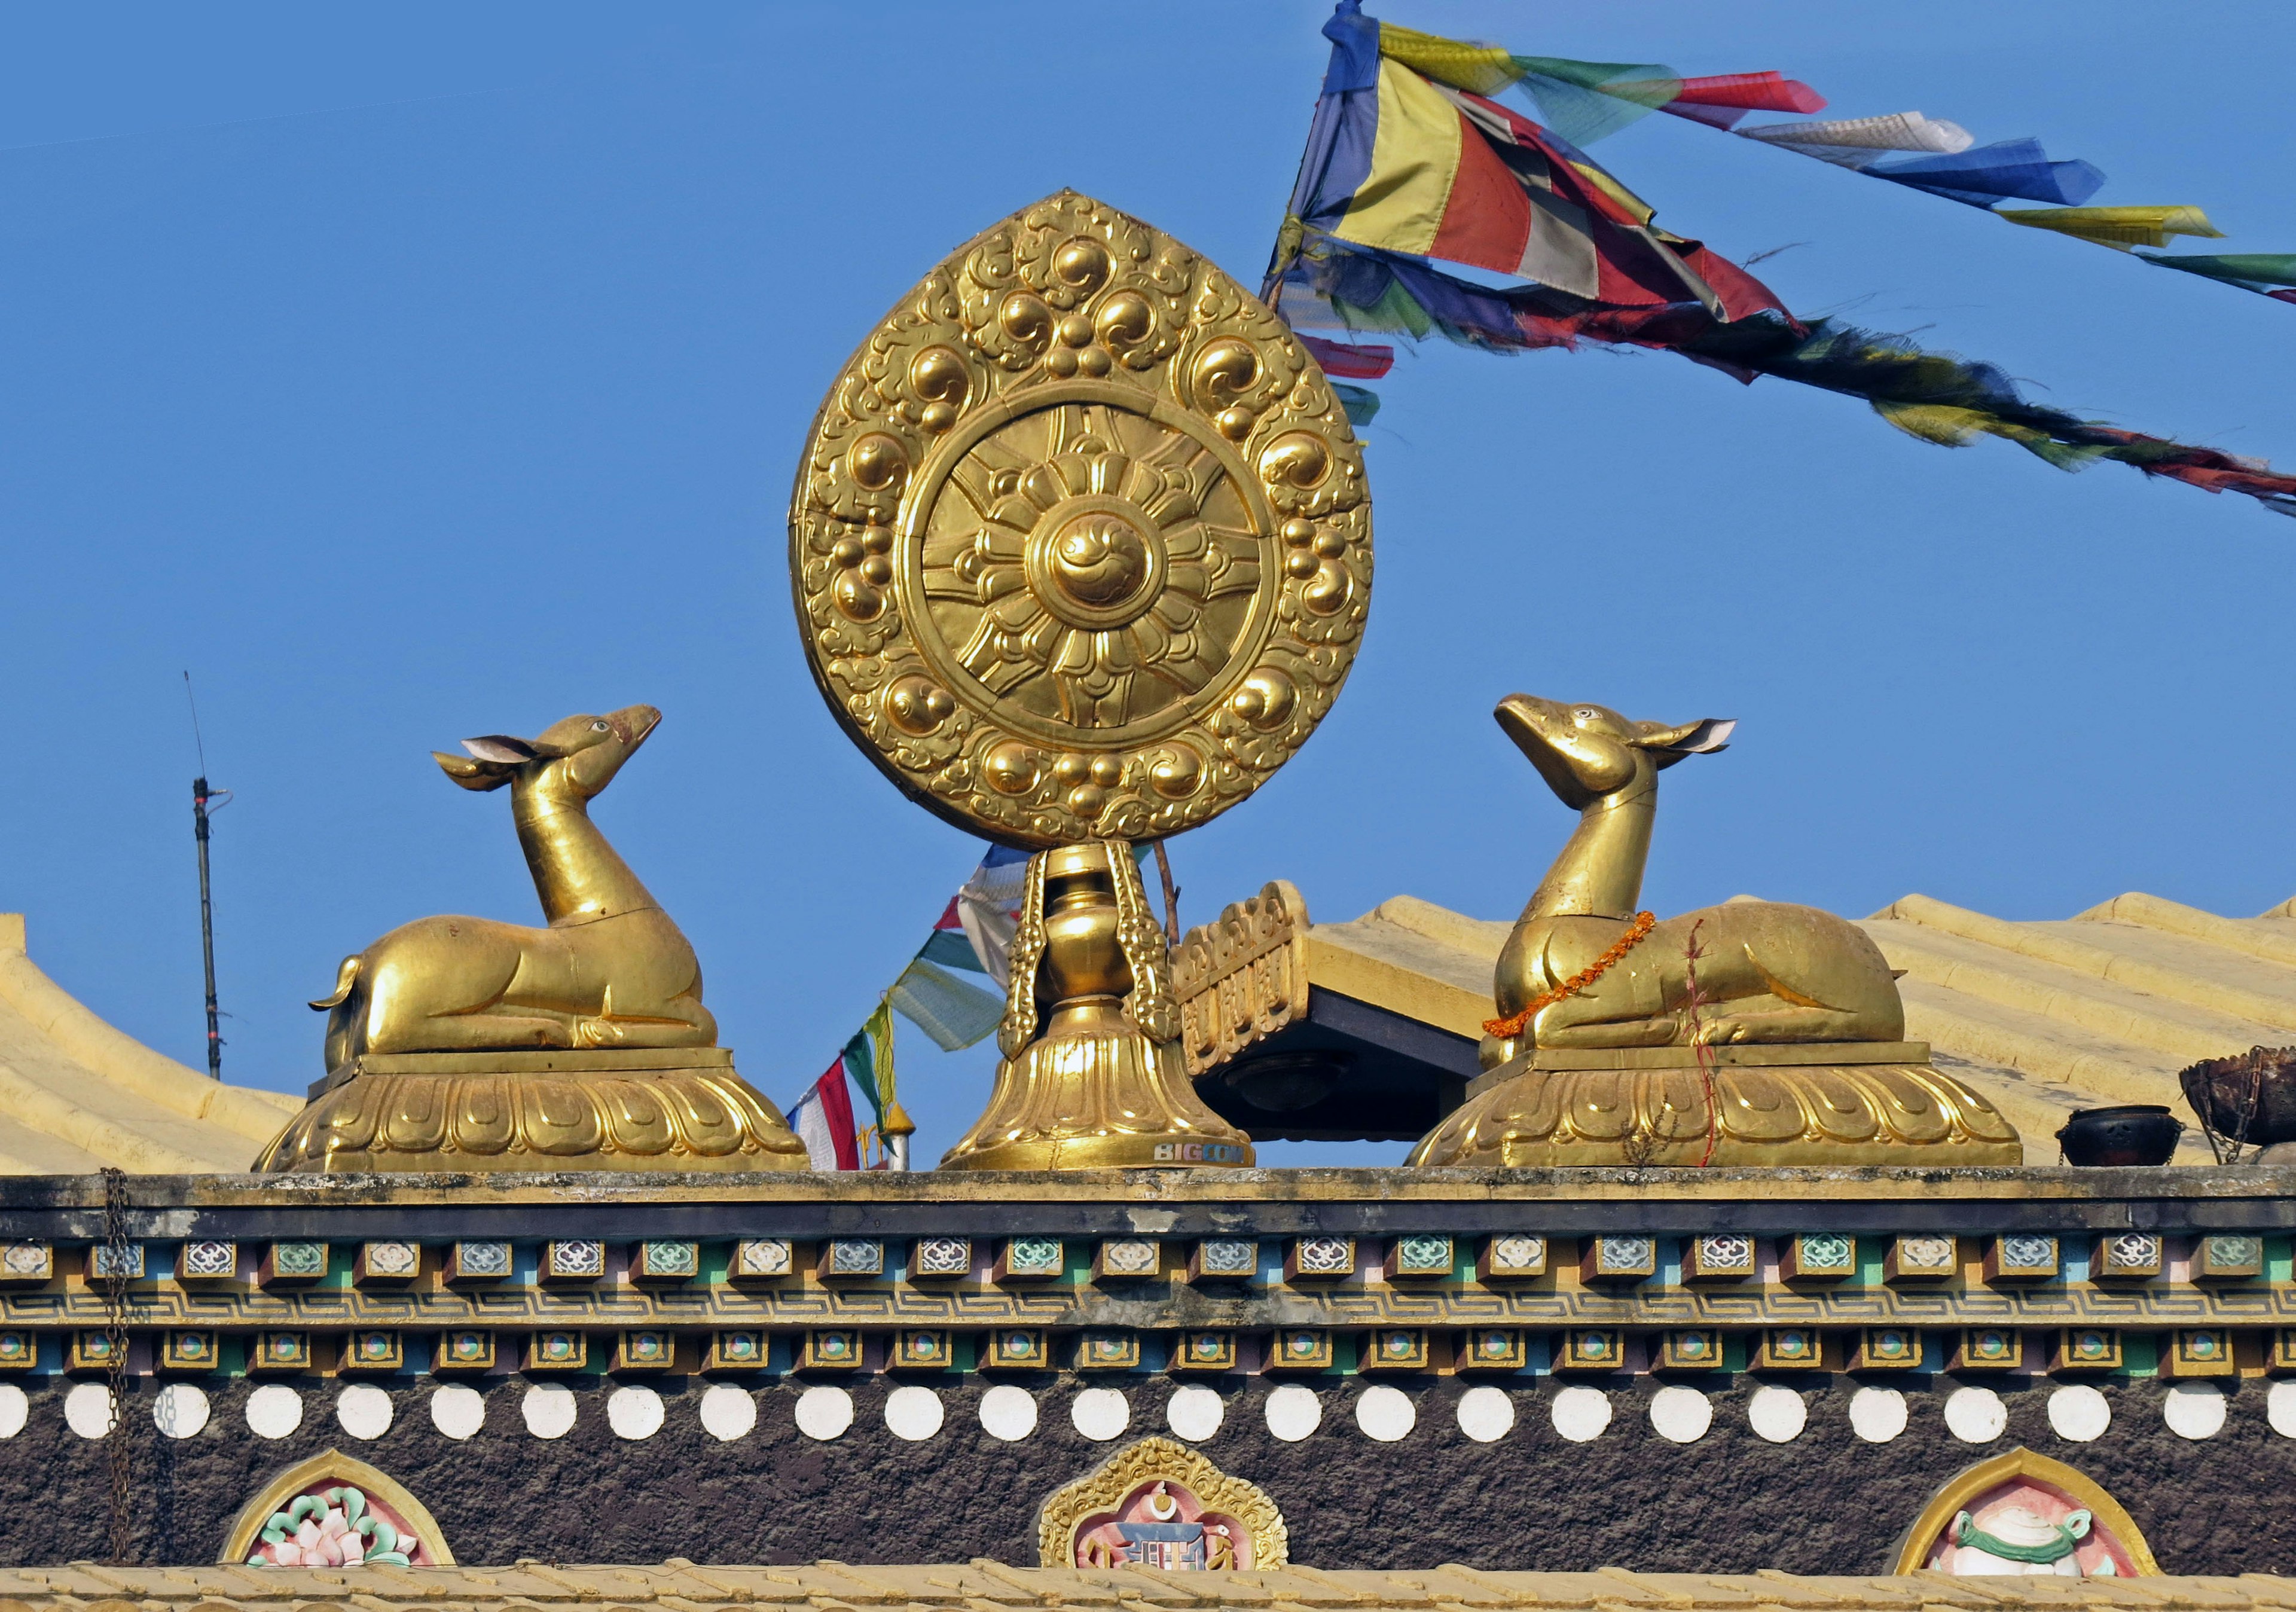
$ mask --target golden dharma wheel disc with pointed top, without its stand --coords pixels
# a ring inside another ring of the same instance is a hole
[[[1162,838],[1332,707],[1371,597],[1364,455],[1258,299],[1063,191],[838,374],[790,579],[815,682],[912,799],[1015,845]]]

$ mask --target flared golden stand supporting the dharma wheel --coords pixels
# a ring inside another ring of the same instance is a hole
[[[1120,840],[1029,863],[1003,1063],[941,1169],[1251,1164],[1251,1137],[1196,1098],[1164,932]]]

